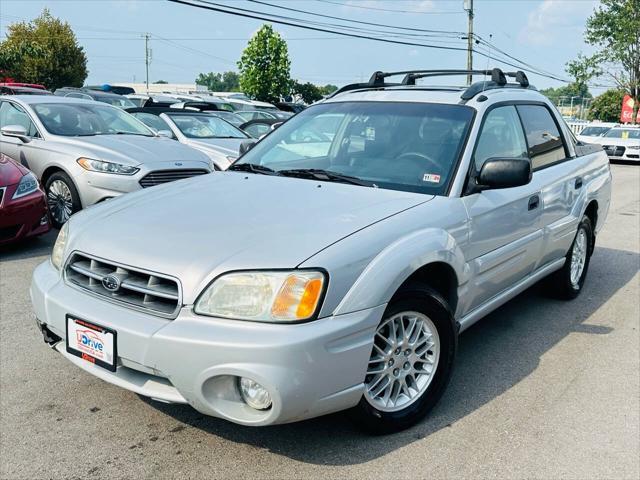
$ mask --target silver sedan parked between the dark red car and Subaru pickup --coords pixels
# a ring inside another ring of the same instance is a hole
[[[94,203],[212,171],[203,153],[100,102],[2,97],[0,125],[0,152],[38,176],[56,227]]]

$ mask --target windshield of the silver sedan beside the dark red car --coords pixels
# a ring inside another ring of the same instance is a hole
[[[128,113],[91,103],[38,103],[33,105],[48,132],[65,137],[93,135],[144,135],[153,133]]]

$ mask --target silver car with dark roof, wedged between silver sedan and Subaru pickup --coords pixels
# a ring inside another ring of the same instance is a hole
[[[127,111],[154,131],[205,153],[216,170],[227,169],[240,156],[240,145],[254,141],[239,128],[209,113],[173,108]]]

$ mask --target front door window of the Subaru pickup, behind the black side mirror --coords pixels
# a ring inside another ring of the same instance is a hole
[[[476,171],[479,172],[488,159],[496,157],[527,157],[522,124],[513,105],[494,108],[485,117],[474,154]]]

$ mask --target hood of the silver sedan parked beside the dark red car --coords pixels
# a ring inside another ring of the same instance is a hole
[[[141,135],[96,135],[95,137],[61,137],[58,143],[73,146],[78,156],[116,162],[124,165],[200,161],[208,165],[208,157],[191,147],[163,137]]]

